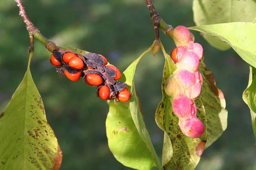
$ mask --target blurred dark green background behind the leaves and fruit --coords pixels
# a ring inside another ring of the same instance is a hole
[[[145,0],[23,0],[26,12],[41,33],[57,45],[102,54],[124,71],[154,40],[154,28]],[[172,26],[194,26],[192,0],[154,0],[154,6]],[[23,79],[28,61],[29,36],[14,0],[0,1],[0,111],[6,107]],[[242,100],[249,67],[233,50],[212,48],[198,32],[196,42],[204,48],[204,61],[216,78],[227,102],[228,127],[204,151],[197,170],[256,169],[255,137],[250,111]],[[160,34],[166,51],[175,45]],[[50,53],[36,41],[31,72],[44,101],[47,120],[63,151],[61,170],[128,170],[108,148],[106,102],[96,88],[82,80],[60,77],[49,64]],[[138,65],[135,84],[142,101],[145,124],[158,155],[163,131],[154,112],[162,98],[164,57],[146,54]]]

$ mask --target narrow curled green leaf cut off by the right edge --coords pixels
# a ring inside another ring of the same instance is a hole
[[[256,68],[250,66],[247,89],[243,93],[244,102],[249,106],[252,117],[253,132],[256,137]]]

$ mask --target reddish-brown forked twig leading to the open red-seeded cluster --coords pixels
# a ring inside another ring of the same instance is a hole
[[[29,32],[29,38],[30,38],[30,46],[29,46],[29,53],[31,51],[34,51],[34,37],[38,39],[41,43],[44,44],[45,48],[47,48],[48,51],[53,52],[54,50],[58,50],[59,48],[57,45],[55,45],[54,42],[51,40],[48,40],[45,38],[38,28],[35,27],[35,25],[29,20],[29,17],[26,14],[25,8],[21,2],[21,0],[15,0],[17,3],[17,6],[20,9],[19,15],[22,17],[24,23],[26,24],[26,29]]]

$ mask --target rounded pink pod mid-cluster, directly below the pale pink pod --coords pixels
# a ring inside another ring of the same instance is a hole
[[[195,84],[195,73],[191,71],[177,70],[177,72],[175,71],[174,77],[180,86],[185,90]]]

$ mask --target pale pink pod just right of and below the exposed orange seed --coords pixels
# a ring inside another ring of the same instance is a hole
[[[182,61],[179,62],[179,67],[188,69],[192,72],[196,72],[198,71],[199,62],[200,61],[198,55],[195,54],[193,51],[188,51],[183,57]]]

